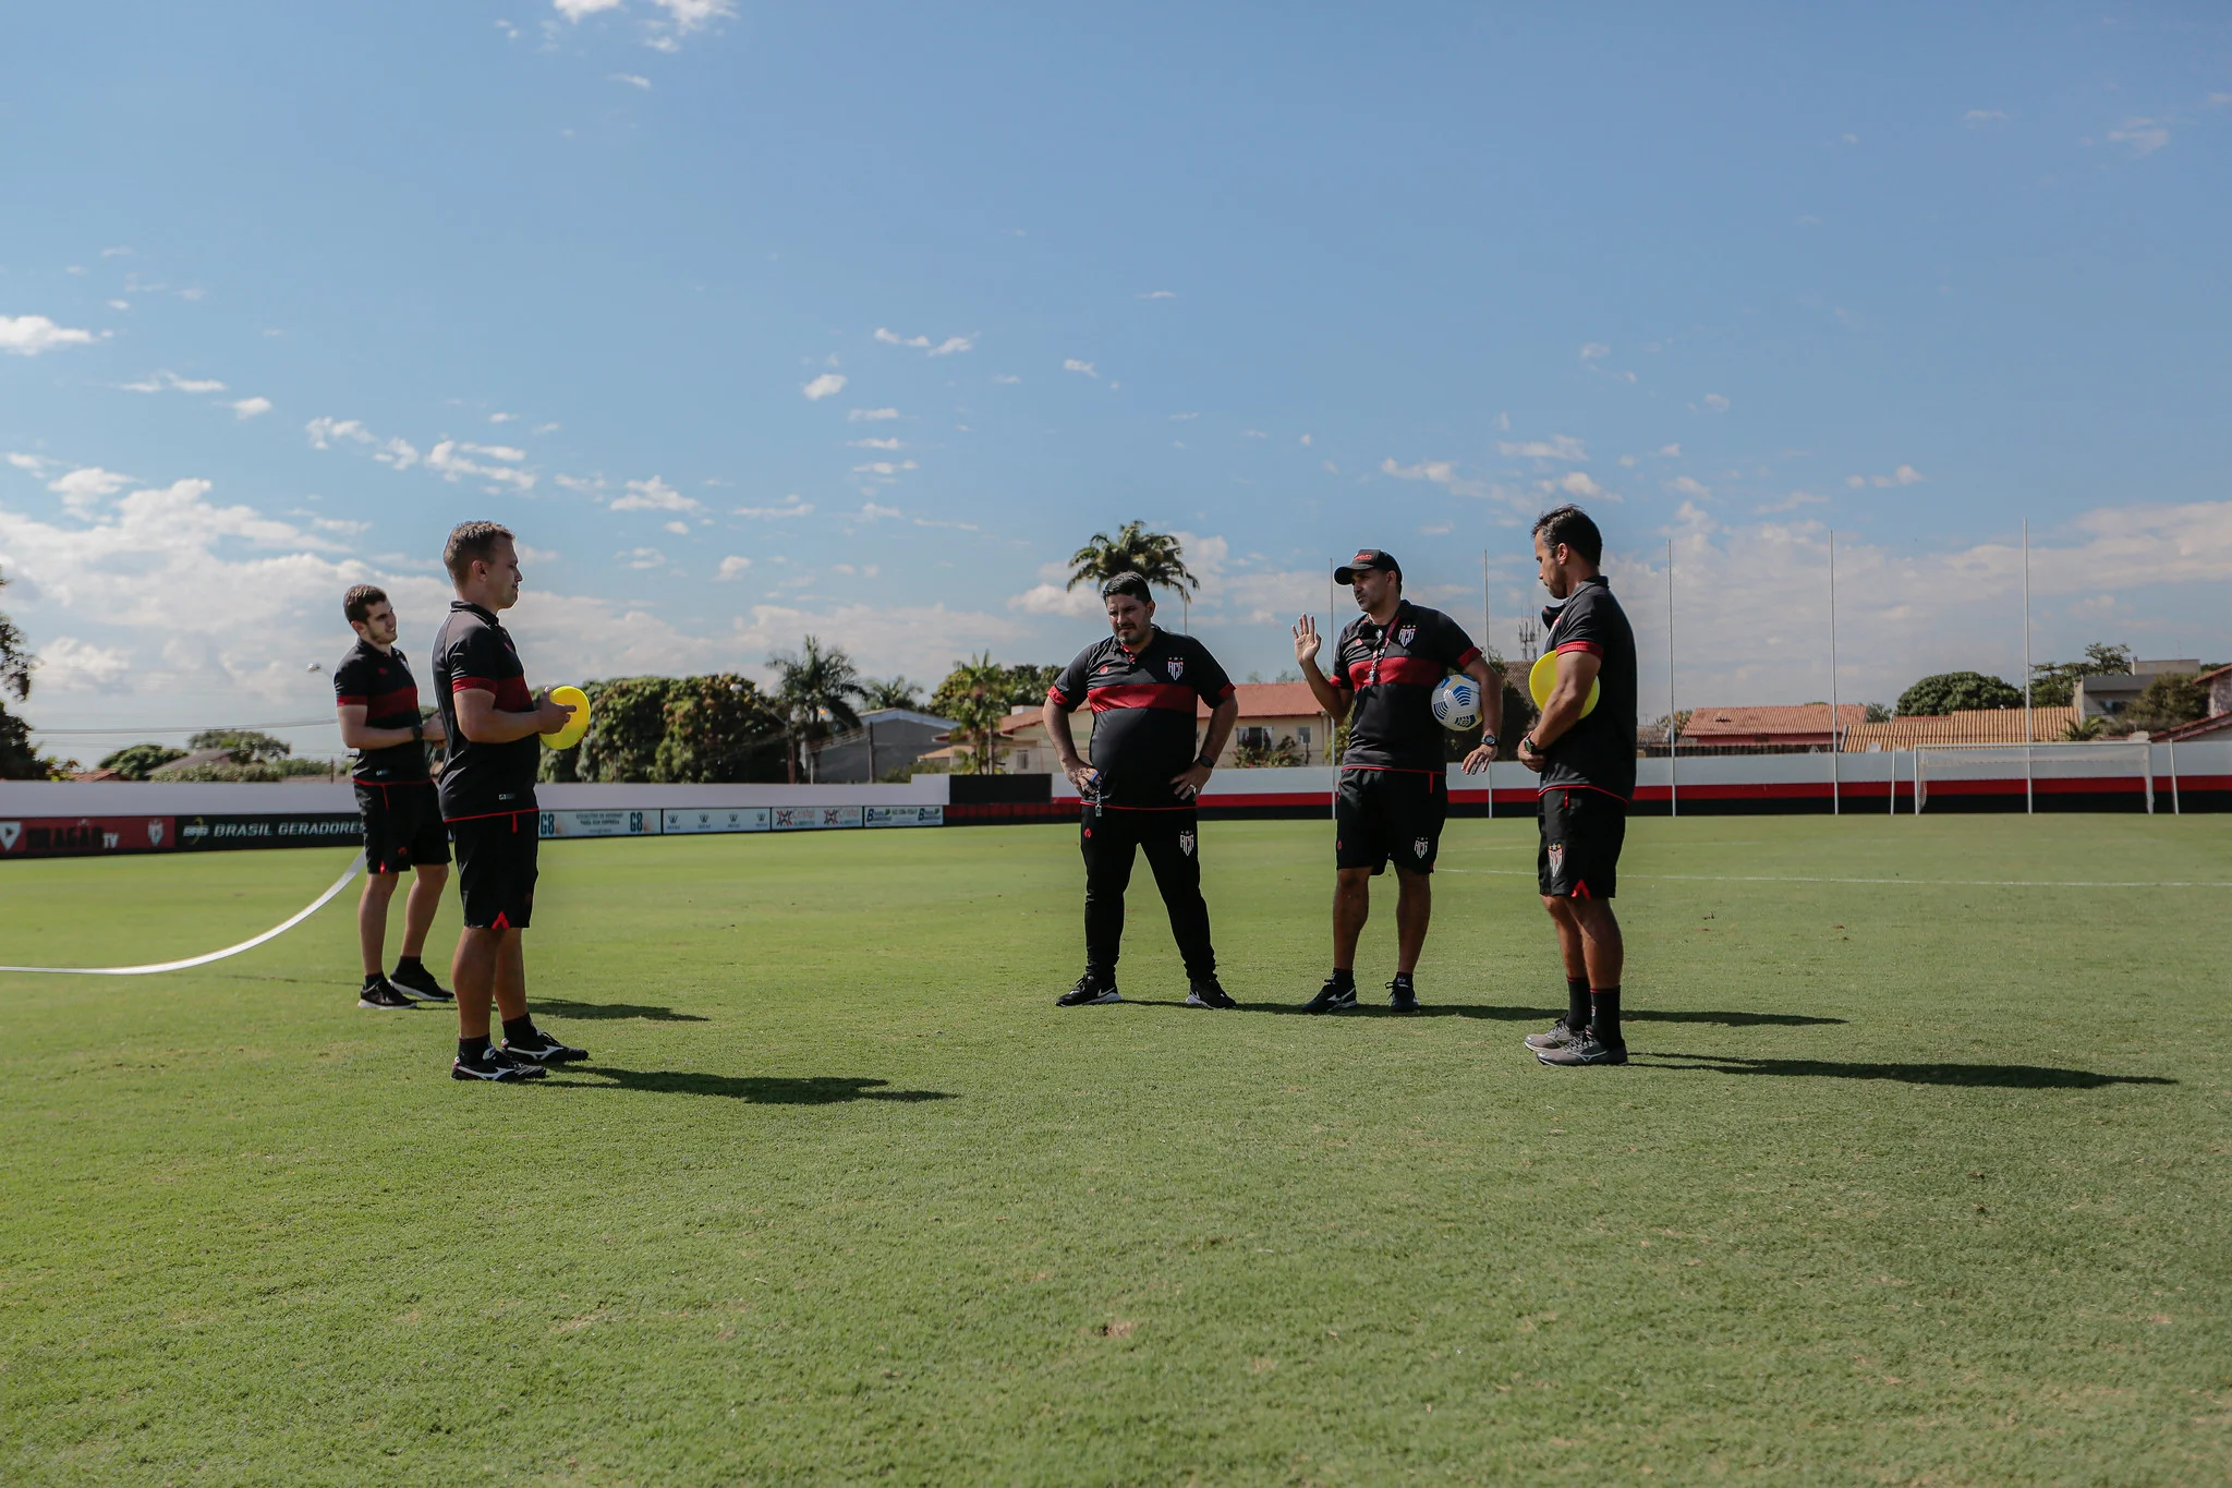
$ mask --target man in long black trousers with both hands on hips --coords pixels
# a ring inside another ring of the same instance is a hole
[[[1116,955],[1123,946],[1123,892],[1132,883],[1134,848],[1147,852],[1154,886],[1170,910],[1170,933],[1185,959],[1190,1008],[1237,1006],[1216,982],[1210,906],[1201,899],[1201,828],[1194,801],[1216,767],[1241,705],[1232,678],[1192,636],[1154,625],[1154,598],[1138,573],[1100,587],[1109,636],[1078,651],[1062,669],[1040,718],[1062,761],[1062,774],[1085,801],[1078,839],[1085,848],[1085,975],[1056,997],[1065,1008],[1123,1002]],[[1078,759],[1069,714],[1094,709],[1094,763]],[[1210,705],[1210,727],[1196,752],[1196,703]]]

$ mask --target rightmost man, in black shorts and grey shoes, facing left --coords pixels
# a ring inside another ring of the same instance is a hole
[[[1580,506],[1536,518],[1536,567],[1556,600],[1542,611],[1558,656],[1542,716],[1520,738],[1520,763],[1542,776],[1542,908],[1558,926],[1567,1013],[1527,1046],[1545,1064],[1627,1064],[1620,968],[1627,944],[1612,915],[1627,803],[1636,794],[1636,634],[1598,571],[1605,538]],[[1596,687],[1596,707],[1589,689]]]

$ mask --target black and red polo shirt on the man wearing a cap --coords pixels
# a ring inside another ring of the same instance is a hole
[[[1455,620],[1404,600],[1386,627],[1357,616],[1333,647],[1333,685],[1357,694],[1341,770],[1449,767],[1433,689],[1480,656]]]

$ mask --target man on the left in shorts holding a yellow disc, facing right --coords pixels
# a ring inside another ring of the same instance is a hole
[[[433,689],[449,734],[442,817],[458,846],[464,930],[451,982],[458,988],[453,1080],[533,1080],[547,1064],[589,1057],[536,1028],[527,1015],[520,933],[536,906],[538,734],[565,727],[574,709],[527,689],[527,669],[496,620],[520,600],[511,531],[464,522],[442,553],[458,600],[433,642]],[[489,997],[504,1015],[504,1046],[489,1046]]]

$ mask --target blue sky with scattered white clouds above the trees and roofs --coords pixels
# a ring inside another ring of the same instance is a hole
[[[321,716],[478,515],[551,683],[1060,660],[1127,518],[1237,674],[1357,544],[1511,649],[1567,497],[1685,707],[1828,694],[1830,529],[1846,698],[2020,674],[2024,518],[2040,658],[2232,656],[2232,18],[1817,11],[16,7],[25,712]]]

